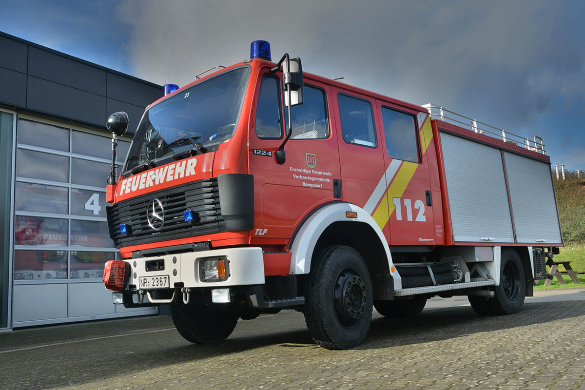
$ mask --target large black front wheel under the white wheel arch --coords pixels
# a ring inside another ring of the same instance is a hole
[[[305,287],[305,322],[313,340],[330,350],[362,343],[370,329],[373,289],[362,256],[348,246],[321,251]]]

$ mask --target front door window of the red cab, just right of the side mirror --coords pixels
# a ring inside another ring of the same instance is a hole
[[[286,91],[284,92],[287,93]],[[303,103],[291,107],[291,140],[323,139],[329,137],[325,92],[305,84]],[[288,123],[288,108],[284,108]],[[287,127],[288,131],[288,127]]]

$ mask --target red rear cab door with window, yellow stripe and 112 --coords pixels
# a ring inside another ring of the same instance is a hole
[[[392,167],[387,175],[388,214],[380,216],[390,227],[390,243],[392,246],[434,245],[435,199],[418,112],[376,101],[376,113],[383,133],[384,161]]]

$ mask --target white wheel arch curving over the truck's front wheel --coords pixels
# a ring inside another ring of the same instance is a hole
[[[357,218],[347,218],[346,212],[356,212]],[[298,230],[297,235],[294,237],[294,240],[292,241],[292,258],[289,273],[309,273],[311,270],[311,258],[319,237],[321,237],[321,234],[325,231],[325,229],[327,229],[327,227],[329,227],[333,222],[338,221],[367,223],[367,225],[369,225],[374,230],[374,232],[376,232],[378,239],[384,248],[384,251],[386,251],[386,258],[388,259],[388,270],[390,270],[390,274],[394,278],[394,289],[401,289],[402,280],[400,278],[400,274],[398,274],[397,271],[392,272],[394,264],[390,254],[390,247],[388,247],[388,242],[386,241],[386,237],[384,237],[384,233],[382,233],[380,226],[378,226],[376,221],[368,212],[366,212],[366,210],[351,203],[339,202],[326,205],[317,210],[307,220],[305,220],[301,228]]]

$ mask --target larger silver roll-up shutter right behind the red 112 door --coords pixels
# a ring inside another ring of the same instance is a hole
[[[501,152],[441,133],[455,241],[513,243]]]

